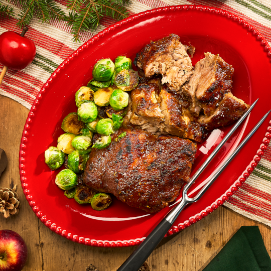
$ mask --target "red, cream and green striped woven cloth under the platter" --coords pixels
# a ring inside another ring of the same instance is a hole
[[[12,6],[15,13],[20,10],[8,1],[3,0],[1,3]],[[68,14],[67,1],[58,0],[57,3]],[[231,12],[253,25],[271,46],[270,0],[131,0],[131,5],[127,8],[132,15],[173,5],[205,5]],[[0,34],[6,31],[21,33],[16,23],[14,18],[1,18]],[[114,21],[110,19],[103,20],[102,26],[97,31],[84,33],[81,41],[87,41],[112,23]],[[26,69],[8,70],[0,86],[0,94],[30,109],[40,88],[53,71],[81,45],[72,42],[70,32],[71,28],[63,22],[52,21],[50,24],[42,24],[38,19],[33,19],[26,37],[35,43],[37,55]],[[0,65],[0,69],[3,69],[3,65]],[[269,132],[271,133],[271,127],[269,127]],[[224,205],[244,216],[271,226],[270,144],[252,174]]]

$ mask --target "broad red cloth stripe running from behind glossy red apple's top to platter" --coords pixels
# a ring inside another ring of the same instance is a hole
[[[16,31],[18,33],[21,32],[20,29],[16,26],[17,20],[14,18],[2,18],[0,21],[0,26],[7,29],[8,31]],[[43,49],[50,51],[51,53],[59,56],[62,59],[67,58],[70,54],[74,52],[70,47],[65,44],[59,42],[56,39],[53,39],[33,28],[29,28],[26,37],[31,39],[35,45],[40,46]],[[46,41],[46,42],[44,42]]]

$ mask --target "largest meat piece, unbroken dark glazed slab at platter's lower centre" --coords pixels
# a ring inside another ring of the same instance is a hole
[[[116,142],[123,131],[126,136]],[[112,193],[129,206],[155,213],[173,202],[189,180],[196,150],[189,140],[120,129],[112,135],[109,147],[91,151],[84,183]]]

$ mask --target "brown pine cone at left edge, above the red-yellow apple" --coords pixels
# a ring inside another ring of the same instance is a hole
[[[21,203],[15,191],[16,186],[13,189],[0,188],[0,213],[2,213],[5,218],[19,213]]]

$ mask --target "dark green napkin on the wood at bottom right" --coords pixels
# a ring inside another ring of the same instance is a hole
[[[258,226],[242,226],[202,271],[270,271]]]

